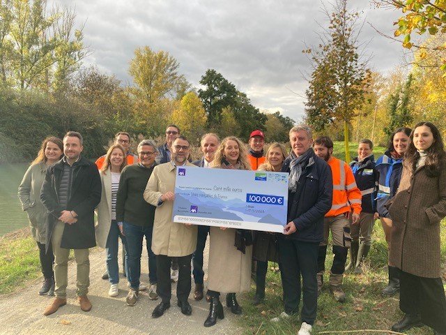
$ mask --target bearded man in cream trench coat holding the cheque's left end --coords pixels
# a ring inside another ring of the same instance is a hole
[[[190,261],[197,247],[197,226],[172,221],[175,198],[175,179],[177,167],[192,166],[187,161],[189,141],[184,136],[177,137],[172,143],[172,159],[169,163],[155,166],[148,179],[144,199],[156,206],[153,223],[152,250],[157,260],[157,294],[162,301],[155,307],[153,318],[159,318],[170,307],[171,281],[170,267],[172,258],[178,259],[179,276],[176,287],[178,306],[184,315],[192,314],[187,301],[191,289]]]

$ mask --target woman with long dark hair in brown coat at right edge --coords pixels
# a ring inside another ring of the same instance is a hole
[[[420,122],[410,134],[392,216],[390,262],[401,269],[394,332],[427,325],[446,334],[446,299],[440,268],[440,221],[446,216],[446,154],[436,126]]]

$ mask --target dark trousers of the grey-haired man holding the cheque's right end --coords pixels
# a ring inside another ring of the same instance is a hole
[[[278,239],[279,266],[284,288],[285,313],[298,313],[300,295],[303,293],[300,318],[313,325],[318,304],[318,243]],[[302,290],[300,278],[302,277]]]

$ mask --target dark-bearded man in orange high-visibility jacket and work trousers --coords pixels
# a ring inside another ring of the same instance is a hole
[[[346,300],[342,290],[342,276],[344,275],[348,248],[350,248],[350,223],[359,222],[361,207],[361,191],[357,188],[355,176],[351,168],[344,161],[332,156],[333,141],[328,136],[319,136],[314,140],[313,149],[316,155],[325,159],[332,169],[333,199],[332,208],[325,214],[323,241],[319,245],[318,254],[318,294],[321,293],[323,273],[325,271],[325,256],[327,254],[328,234],[332,232],[333,265],[330,270],[330,292],[339,302]]]

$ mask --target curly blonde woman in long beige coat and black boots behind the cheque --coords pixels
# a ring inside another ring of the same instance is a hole
[[[215,153],[213,168],[251,170],[247,161],[247,150],[237,137],[226,137]],[[208,295],[211,297],[209,315],[204,327],[215,325],[217,318],[224,318],[220,303],[220,292],[226,295],[226,306],[234,314],[242,313],[236,292],[251,288],[252,235],[249,230],[232,228],[210,228]],[[240,249],[234,246],[238,237],[242,241]]]

